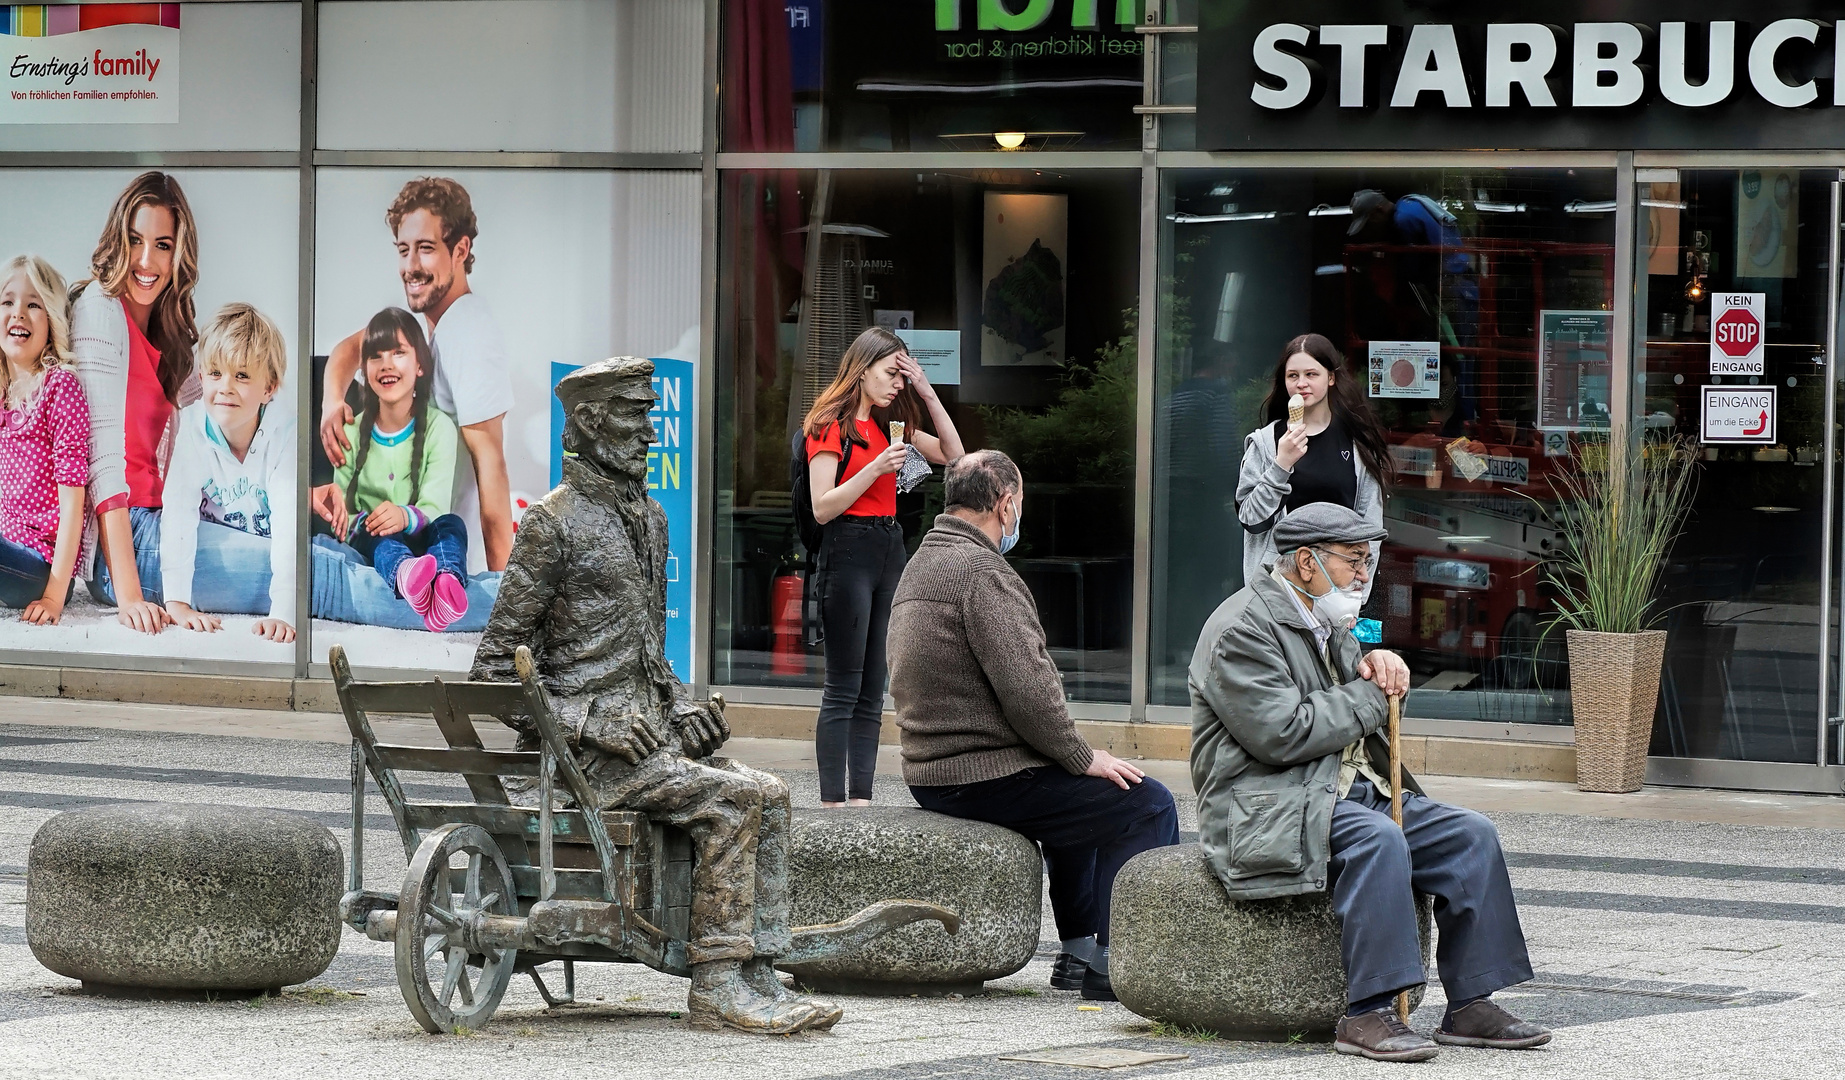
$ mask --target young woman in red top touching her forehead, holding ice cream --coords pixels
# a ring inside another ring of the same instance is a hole
[[[919,406],[928,410],[935,436],[917,430]],[[845,349],[839,373],[803,425],[814,521],[825,530],[819,572],[827,685],[814,731],[823,807],[843,807],[847,798],[858,807],[871,805],[884,716],[884,631],[904,572],[897,471],[908,449],[891,443],[895,421],[902,421],[908,441],[935,465],[963,452],[948,410],[902,340],[871,327]],[[845,443],[852,452],[841,474]]]

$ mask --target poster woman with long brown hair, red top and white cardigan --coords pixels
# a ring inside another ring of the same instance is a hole
[[[70,345],[90,404],[90,511],[83,567],[98,604],[142,633],[161,606],[161,489],[175,410],[199,397],[192,288],[199,236],[179,181],[144,172],[116,198],[72,292]],[[94,550],[94,556],[90,552]],[[94,561],[90,561],[94,558]]]

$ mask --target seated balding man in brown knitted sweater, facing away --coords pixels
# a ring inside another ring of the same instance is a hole
[[[1004,552],[1024,478],[998,450],[948,463],[946,513],[891,600],[891,696],[917,805],[1044,846],[1063,951],[1052,986],[1114,1001],[1109,894],[1122,864],[1179,842],[1172,792],[1092,750],[1063,700],[1037,604]]]

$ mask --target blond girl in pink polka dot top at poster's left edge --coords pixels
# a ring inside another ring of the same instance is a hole
[[[0,607],[57,622],[83,543],[90,406],[70,369],[65,279],[35,255],[0,268]]]

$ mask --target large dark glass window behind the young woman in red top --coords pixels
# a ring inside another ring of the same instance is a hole
[[[821,650],[801,644],[790,441],[876,323],[926,353],[963,443],[1024,471],[1009,559],[1068,696],[1127,702],[1140,174],[727,172],[721,185],[712,683],[821,685]],[[1052,290],[1013,288],[1028,262]],[[911,550],[939,508],[939,471],[899,502]]]

